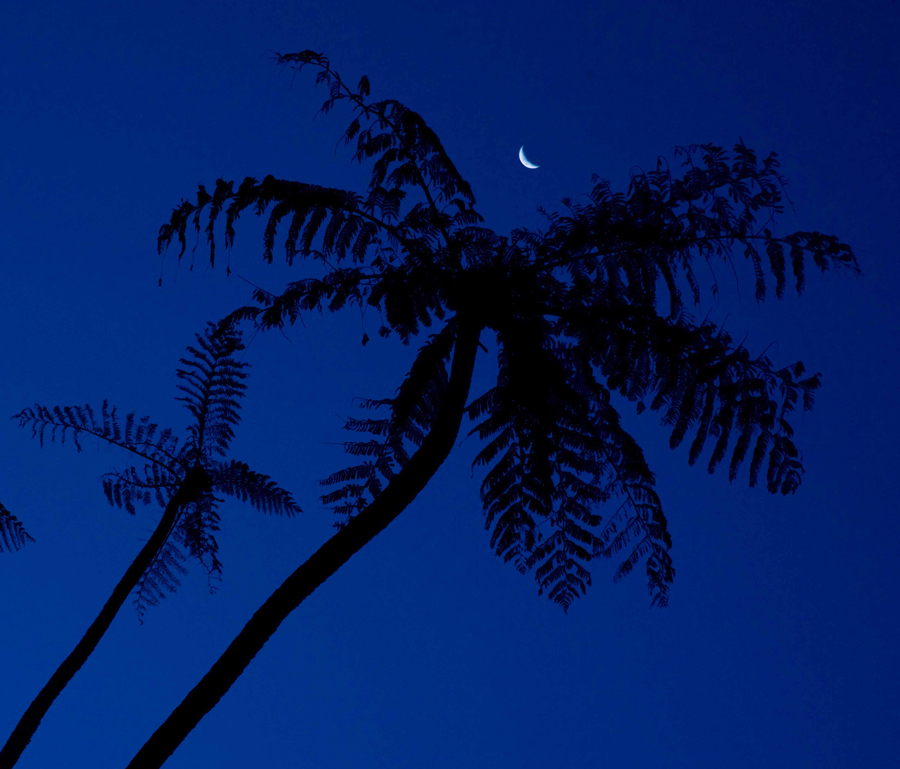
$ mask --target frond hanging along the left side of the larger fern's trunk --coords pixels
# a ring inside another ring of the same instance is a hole
[[[337,526],[349,522],[365,509],[381,493],[384,484],[406,464],[410,450],[421,446],[447,388],[447,361],[455,338],[456,324],[450,322],[422,345],[394,398],[362,401],[363,408],[386,408],[389,416],[345,421],[345,430],[375,437],[347,441],[345,451],[364,459],[321,481],[324,486],[337,487],[322,496],[322,502],[332,506],[341,517]]]

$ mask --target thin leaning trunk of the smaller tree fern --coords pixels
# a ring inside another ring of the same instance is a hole
[[[125,603],[143,573],[153,562],[153,558],[165,543],[166,537],[178,517],[179,508],[196,498],[199,489],[205,483],[205,474],[199,467],[188,473],[181,487],[166,505],[156,530],[150,535],[150,539],[138,553],[137,558],[126,569],[97,618],[19,719],[19,723],[10,734],[6,745],[0,750],[0,769],[11,769],[19,760],[22,751],[28,747],[28,743],[31,742],[31,738],[40,726],[41,719],[97,648],[100,639],[103,638],[119,609],[122,608],[122,604]]]

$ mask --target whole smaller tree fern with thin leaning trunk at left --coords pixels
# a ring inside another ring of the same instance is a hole
[[[215,533],[219,529],[221,493],[249,502],[266,513],[293,515],[300,511],[291,495],[267,476],[243,462],[223,462],[233,428],[240,421],[240,398],[246,363],[235,353],[244,349],[239,332],[230,324],[208,324],[196,335],[196,346],[188,347],[177,371],[178,398],[190,412],[187,438],[179,439],[171,429],[160,429],[149,417],[134,413],[120,418],[106,401],[99,415],[90,405],[46,406],[23,409],[13,417],[20,426],[31,427],[41,445],[49,437],[65,443],[71,439],[78,451],[86,437],[98,438],[124,449],[143,462],[103,477],[103,490],[111,505],[135,514],[136,504],[163,508],[159,524],[87,632],[25,711],[6,745],[0,750],[0,767],[12,767],[28,746],[50,706],[93,653],[128,595],[135,594],[139,616],[174,591],[186,569],[182,562],[197,559],[210,577],[219,577]],[[14,519],[13,519],[14,520]],[[26,535],[27,536],[27,535]]]

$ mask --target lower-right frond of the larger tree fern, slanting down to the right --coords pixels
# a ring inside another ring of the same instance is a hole
[[[636,401],[639,412],[649,407],[662,414],[672,448],[696,430],[691,464],[712,437],[709,472],[731,445],[729,480],[751,454],[755,486],[768,454],[768,490],[797,490],[803,469],[788,417],[801,399],[805,410],[812,408],[820,375],[803,378],[799,362],[776,369],[767,357],[735,347],[712,323],[694,326],[687,316],[676,321],[646,308],[607,307],[567,320],[566,333],[579,339],[611,388]]]

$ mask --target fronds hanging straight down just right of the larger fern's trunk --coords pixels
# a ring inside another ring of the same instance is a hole
[[[608,393],[547,321],[510,322],[498,342],[497,385],[469,407],[479,420],[470,434],[485,442],[474,464],[488,468],[481,496],[491,546],[523,573],[533,570],[540,592],[566,610],[591,584],[594,557],[631,545],[618,576],[649,548],[653,600],[665,604],[674,573],[666,520]],[[601,527],[600,511],[614,498],[619,512]],[[627,531],[611,547],[623,522]]]

